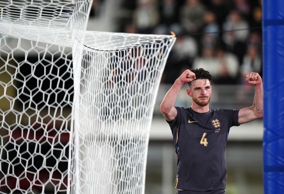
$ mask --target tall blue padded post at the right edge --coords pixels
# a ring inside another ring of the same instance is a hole
[[[263,0],[264,193],[284,193],[284,1]]]

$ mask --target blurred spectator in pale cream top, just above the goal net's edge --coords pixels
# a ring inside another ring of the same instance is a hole
[[[150,34],[152,32],[153,27],[159,22],[159,10],[153,0],[138,0],[133,22],[137,26],[138,33]]]

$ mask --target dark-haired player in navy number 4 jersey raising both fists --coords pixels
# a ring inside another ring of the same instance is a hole
[[[263,87],[258,73],[247,74],[254,85],[253,105],[240,110],[209,108],[212,76],[204,69],[185,70],[160,105],[170,125],[177,153],[178,194],[220,194],[226,191],[225,146],[231,126],[263,117]],[[190,108],[175,107],[184,82],[192,99]]]

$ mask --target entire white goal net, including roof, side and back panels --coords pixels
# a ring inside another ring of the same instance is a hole
[[[85,33],[90,3],[0,3],[0,193],[144,193],[175,37]]]

